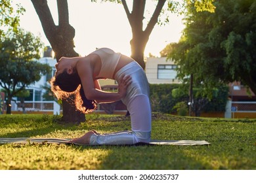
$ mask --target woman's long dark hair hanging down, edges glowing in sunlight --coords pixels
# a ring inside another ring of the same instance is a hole
[[[77,72],[74,71],[74,73],[68,74],[67,70],[64,70],[57,76],[53,76],[50,83],[51,90],[58,99],[63,99],[74,94],[74,103],[77,110],[85,113],[96,108],[96,101],[88,100],[85,97],[85,92],[83,91]]]

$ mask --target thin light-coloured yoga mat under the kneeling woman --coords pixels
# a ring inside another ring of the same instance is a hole
[[[95,146],[91,144],[77,144],[69,142],[71,139],[54,139],[54,138],[0,138],[0,144],[14,143],[14,144],[76,144],[83,146]],[[161,140],[152,140],[149,143],[139,142],[133,145],[176,145],[176,146],[199,146],[199,145],[208,145],[210,144],[207,141],[191,141],[191,140],[182,140],[182,141],[161,141]],[[96,145],[99,146],[99,145]],[[122,146],[122,145],[121,145]]]

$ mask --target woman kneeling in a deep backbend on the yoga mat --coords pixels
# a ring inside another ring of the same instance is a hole
[[[87,112],[96,103],[123,101],[131,116],[131,130],[99,134],[95,130],[71,142],[79,144],[135,144],[150,142],[151,108],[148,80],[140,65],[109,48],[100,48],[86,57],[60,58],[51,80],[52,91],[58,97],[75,93],[77,110]],[[118,92],[100,90],[98,79],[115,79]]]

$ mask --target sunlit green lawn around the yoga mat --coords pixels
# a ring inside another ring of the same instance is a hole
[[[74,138],[89,129],[129,130],[129,118],[87,115],[80,125],[60,116],[0,115],[0,137]],[[256,169],[256,120],[189,118],[153,114],[152,139],[205,140],[209,146],[75,146],[2,144],[0,169]]]

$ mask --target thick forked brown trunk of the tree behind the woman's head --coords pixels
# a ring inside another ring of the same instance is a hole
[[[47,0],[32,0],[33,7],[39,16],[39,20],[49,40],[56,60],[61,57],[79,56],[74,50],[75,29],[69,24],[68,20],[68,1],[58,0],[58,25],[54,24],[53,16],[47,5]],[[71,104],[70,99],[62,100],[63,122],[84,122],[85,114],[76,110]]]

